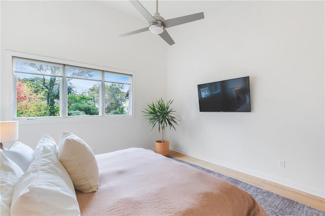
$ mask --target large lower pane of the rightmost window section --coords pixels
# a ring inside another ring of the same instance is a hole
[[[131,85],[105,83],[105,114],[129,115],[129,91]]]

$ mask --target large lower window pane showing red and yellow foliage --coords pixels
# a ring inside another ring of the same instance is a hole
[[[17,117],[60,115],[59,78],[17,73]]]

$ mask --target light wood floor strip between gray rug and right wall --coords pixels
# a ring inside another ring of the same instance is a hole
[[[193,158],[191,156],[187,156],[175,151],[170,150],[169,155],[171,157],[180,159],[182,161],[186,161],[201,167],[204,167],[206,169],[218,172],[220,174],[238,179],[239,181],[248,183],[250,185],[256,186],[258,188],[263,188],[265,190],[271,191],[275,194],[284,196],[286,198],[295,200],[297,202],[303,203],[305,205],[317,208],[319,210],[325,211],[325,199],[314,196],[302,191],[298,191],[293,188],[289,188],[283,185],[279,185],[270,181],[267,181],[262,178],[258,178],[252,175],[245,174],[243,172],[239,172],[233,169],[229,169],[223,166],[219,166],[207,161],[203,161],[197,158]]]

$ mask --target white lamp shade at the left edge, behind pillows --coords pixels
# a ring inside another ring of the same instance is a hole
[[[0,122],[0,142],[18,139],[18,121]]]

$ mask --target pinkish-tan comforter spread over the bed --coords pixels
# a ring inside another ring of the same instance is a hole
[[[96,155],[97,192],[77,198],[81,215],[266,215],[248,193],[150,150]]]

